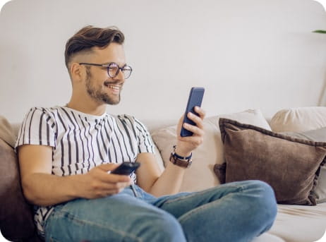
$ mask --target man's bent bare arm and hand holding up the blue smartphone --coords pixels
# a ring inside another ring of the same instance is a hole
[[[184,124],[184,127],[194,134],[190,137],[181,137],[180,130],[183,121],[183,117],[179,120],[177,135],[176,153],[183,157],[187,157],[191,154],[196,147],[203,143],[203,119],[205,117],[205,111],[203,109],[195,109],[200,115],[195,116],[188,114],[189,119],[193,120],[197,126],[190,126]],[[172,147],[171,147],[172,151]],[[148,193],[155,196],[168,195],[178,193],[183,181],[183,175],[185,168],[178,167],[171,162],[168,162],[167,167],[163,173],[160,174],[157,162],[154,155],[150,153],[140,153],[137,161],[141,163],[140,168],[137,171],[138,185]],[[191,168],[190,168],[191,169]]]

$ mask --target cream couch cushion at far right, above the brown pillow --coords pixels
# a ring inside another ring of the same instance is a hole
[[[272,131],[310,131],[326,127],[326,107],[299,107],[278,111],[270,121]]]

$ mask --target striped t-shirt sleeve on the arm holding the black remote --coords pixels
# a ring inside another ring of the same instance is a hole
[[[56,147],[56,133],[53,114],[44,108],[32,108],[20,126],[15,147],[20,145]]]

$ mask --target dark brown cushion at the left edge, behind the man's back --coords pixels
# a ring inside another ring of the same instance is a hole
[[[13,148],[0,139],[0,228],[10,241],[35,236],[32,210],[20,187],[18,160]]]

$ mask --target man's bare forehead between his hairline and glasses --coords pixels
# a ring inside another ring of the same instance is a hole
[[[126,56],[121,44],[111,43],[105,48],[93,47],[92,51],[92,59],[96,63],[115,62],[119,66],[126,63]]]

